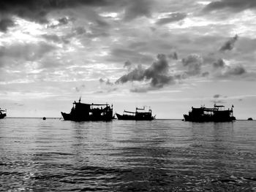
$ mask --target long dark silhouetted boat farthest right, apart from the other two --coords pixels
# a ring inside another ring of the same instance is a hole
[[[225,110],[225,106],[214,104],[214,108],[192,107],[189,115],[184,115],[185,121],[192,122],[229,122],[236,120],[233,116],[233,105],[231,109]]]

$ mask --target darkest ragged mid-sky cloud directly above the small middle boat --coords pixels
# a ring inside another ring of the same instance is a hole
[[[175,78],[168,74],[169,65],[166,55],[157,55],[157,61],[155,61],[147,69],[143,69],[141,65],[138,65],[128,74],[124,74],[116,83],[124,83],[129,81],[143,81],[150,80],[151,88],[162,88],[164,85],[175,82]]]

